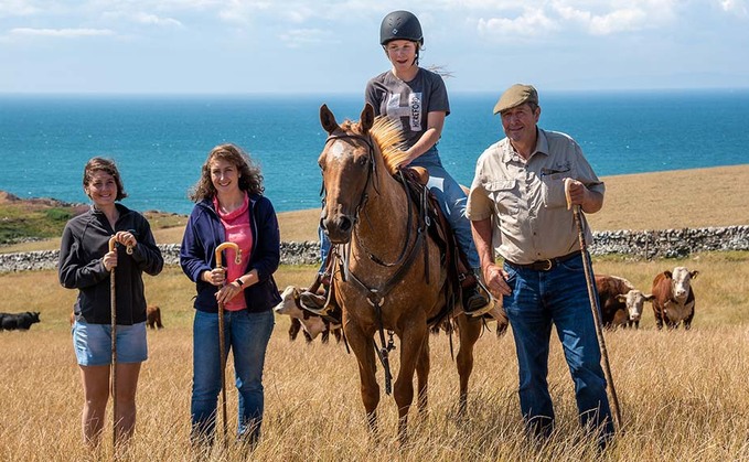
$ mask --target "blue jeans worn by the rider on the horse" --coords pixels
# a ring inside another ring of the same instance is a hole
[[[460,250],[468,258],[468,264],[471,268],[481,268],[481,261],[479,260],[479,254],[475,250],[475,245],[473,244],[473,234],[471,233],[471,222],[466,216],[466,204],[468,202],[468,196],[460,187],[457,181],[445,170],[442,166],[442,161],[439,159],[439,153],[437,148],[432,147],[424,154],[419,155],[415,161],[410,163],[413,166],[422,166],[429,172],[429,182],[427,187],[437,197],[439,207],[442,209],[452,233],[456,235],[456,240],[458,240],[458,246]],[[330,239],[328,235],[322,230],[318,229],[320,236],[320,257],[322,258],[322,264],[320,265],[319,272],[324,271],[325,257],[330,251]]]

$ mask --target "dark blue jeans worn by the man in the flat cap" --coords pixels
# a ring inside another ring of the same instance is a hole
[[[503,304],[515,337],[521,410],[528,431],[545,437],[554,428],[554,407],[546,382],[554,324],[575,383],[580,425],[587,430],[600,430],[603,440],[609,439],[613,422],[582,257],[546,272],[507,264],[504,270],[512,294],[504,297]]]

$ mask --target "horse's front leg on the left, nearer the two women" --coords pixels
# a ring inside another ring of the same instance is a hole
[[[362,327],[347,321],[343,327],[351,350],[359,363],[362,402],[366,412],[366,423],[371,434],[377,438],[377,404],[379,404],[379,386],[375,376],[375,352],[373,341]]]

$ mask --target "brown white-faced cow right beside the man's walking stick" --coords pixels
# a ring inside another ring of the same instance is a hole
[[[601,321],[607,329],[640,327],[642,309],[653,296],[645,296],[630,281],[618,276],[596,276],[596,290],[601,308]]]

